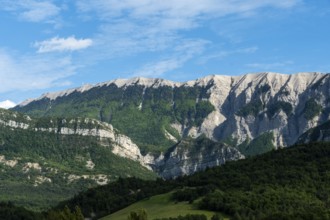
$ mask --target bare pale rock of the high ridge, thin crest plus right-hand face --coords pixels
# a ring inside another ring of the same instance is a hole
[[[318,114],[306,119],[300,117],[308,99],[315,98],[322,108],[328,107],[327,98],[330,96],[329,74],[322,73],[259,73],[242,76],[211,75],[201,79],[184,83],[172,82],[163,79],[147,79],[137,77],[133,79],[118,79],[105,83],[88,85],[77,89],[66,90],[57,93],[47,93],[38,99],[28,100],[20,104],[24,107],[32,102],[42,99],[56,100],[73,92],[84,93],[88,90],[102,86],[116,85],[120,88],[130,86],[143,86],[144,88],[168,87],[203,87],[207,88],[208,100],[215,110],[208,115],[199,127],[189,128],[189,136],[206,134],[214,140],[223,140],[229,136],[242,143],[246,138],[250,140],[265,131],[273,131],[275,146],[287,146],[293,144],[298,136],[309,128],[316,126],[327,117],[326,114]],[[264,87],[264,88],[262,88]],[[264,91],[261,91],[264,89]],[[237,112],[249,103],[260,100],[262,109],[256,115],[237,115]],[[286,114],[282,108],[277,109],[274,115],[265,115],[277,102],[291,105],[291,115]],[[18,108],[19,109],[19,108]],[[258,117],[257,117],[258,116]],[[293,126],[293,122],[299,126]],[[186,127],[182,125],[180,133],[184,133]]]

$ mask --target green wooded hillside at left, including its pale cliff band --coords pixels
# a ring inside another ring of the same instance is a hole
[[[47,208],[118,177],[156,178],[130,157],[134,147],[139,152],[128,137],[94,119],[31,119],[0,109],[0,200]]]

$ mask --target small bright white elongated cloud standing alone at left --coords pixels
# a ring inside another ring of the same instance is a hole
[[[91,39],[76,39],[71,36],[68,38],[53,37],[50,40],[36,42],[34,46],[38,48],[38,53],[47,53],[81,50],[90,47],[92,43]]]

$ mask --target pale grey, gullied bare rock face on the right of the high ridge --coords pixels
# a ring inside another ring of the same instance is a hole
[[[217,80],[216,85],[224,81],[221,77]],[[248,74],[232,78],[231,83],[226,93],[218,89],[219,94],[225,93],[225,99],[218,103],[211,99],[224,119],[213,124],[214,132],[207,134],[215,139],[231,135],[242,143],[272,131],[275,146],[288,146],[329,118],[329,74]]]

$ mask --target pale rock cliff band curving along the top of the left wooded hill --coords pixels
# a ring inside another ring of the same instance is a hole
[[[141,155],[139,147],[132,140],[120,134],[112,125],[88,118],[43,118],[31,119],[19,113],[0,110],[0,125],[10,128],[31,129],[36,132],[50,132],[60,135],[81,135],[100,138],[103,144],[112,147],[112,153],[134,161],[151,169],[149,160]],[[110,141],[110,143],[109,143]]]

